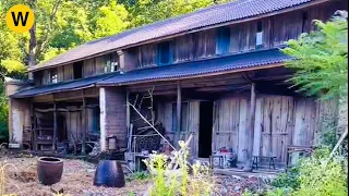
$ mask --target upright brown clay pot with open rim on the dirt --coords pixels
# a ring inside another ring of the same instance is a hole
[[[37,160],[37,175],[44,185],[58,183],[63,173],[63,160],[53,157],[40,157]]]

